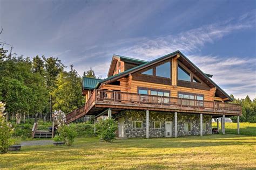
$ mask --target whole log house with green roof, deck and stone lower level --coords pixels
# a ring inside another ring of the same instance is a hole
[[[212,118],[241,116],[241,106],[180,51],[150,62],[113,55],[104,80],[83,77],[84,107],[66,115],[108,115],[118,137],[177,137],[212,133]],[[225,134],[225,122],[221,123]]]

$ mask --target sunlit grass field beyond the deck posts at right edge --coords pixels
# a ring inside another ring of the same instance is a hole
[[[217,123],[212,123],[212,128],[217,128]],[[237,134],[237,123],[225,123],[225,133]],[[256,123],[240,123],[240,134],[256,136]]]

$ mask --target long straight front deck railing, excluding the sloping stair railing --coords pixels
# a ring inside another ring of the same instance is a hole
[[[221,103],[213,101],[192,100],[187,98],[145,95],[137,93],[127,93],[123,91],[96,90],[97,102],[105,103],[133,103],[133,104],[152,104],[162,107],[189,107],[197,109],[241,111],[240,104]]]

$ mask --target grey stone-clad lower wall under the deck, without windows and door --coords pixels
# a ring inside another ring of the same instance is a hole
[[[126,138],[145,138],[146,137],[146,111],[124,110],[114,115],[113,118],[124,117],[125,137]],[[206,131],[203,134],[212,133],[211,115],[203,115],[203,122],[206,123]],[[132,121],[142,121],[143,128],[132,128]],[[160,129],[153,129],[152,122],[161,122]],[[165,137],[165,121],[172,121],[172,136],[174,137],[174,112],[150,111],[149,113],[149,137]],[[192,124],[192,131],[185,132],[184,123]],[[200,115],[178,113],[178,136],[190,136],[200,134]]]

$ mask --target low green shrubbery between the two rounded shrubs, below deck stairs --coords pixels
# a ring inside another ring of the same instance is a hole
[[[78,123],[70,124],[70,126],[77,131],[77,137],[95,137],[94,124]]]

